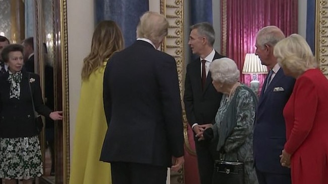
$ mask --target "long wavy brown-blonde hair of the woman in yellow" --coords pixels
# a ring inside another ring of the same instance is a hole
[[[118,25],[114,21],[101,21],[93,32],[91,52],[83,59],[82,79],[89,78],[94,70],[123,47],[123,34]]]

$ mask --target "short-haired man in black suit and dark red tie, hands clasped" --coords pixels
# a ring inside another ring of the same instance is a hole
[[[214,118],[220,106],[222,94],[217,93],[212,85],[211,74],[208,71],[214,59],[222,58],[213,49],[214,29],[206,22],[191,26],[188,44],[193,54],[199,57],[188,64],[184,103],[187,120],[194,132],[198,172],[201,184],[212,183],[212,173],[216,152],[216,144],[207,140],[198,140],[209,125],[214,123]]]

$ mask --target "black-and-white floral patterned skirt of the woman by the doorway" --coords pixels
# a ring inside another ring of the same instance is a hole
[[[42,173],[38,136],[0,138],[0,178],[30,179]]]

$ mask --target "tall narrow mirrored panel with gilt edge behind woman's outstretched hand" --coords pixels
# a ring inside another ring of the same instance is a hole
[[[30,0],[32,1],[32,0]],[[40,183],[68,183],[69,101],[67,9],[65,0],[34,0],[38,71],[45,104],[63,110],[64,120],[45,119],[41,134],[44,174]]]

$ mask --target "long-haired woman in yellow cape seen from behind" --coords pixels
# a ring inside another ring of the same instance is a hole
[[[123,49],[120,28],[100,22],[93,33],[91,52],[83,60],[82,86],[77,112],[70,184],[112,183],[111,166],[99,161],[107,123],[102,103],[103,73],[108,58]]]

